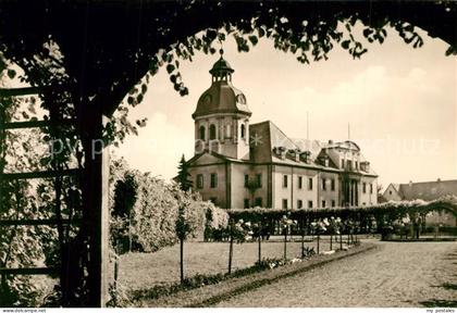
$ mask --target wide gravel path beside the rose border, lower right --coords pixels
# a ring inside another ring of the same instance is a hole
[[[376,242],[218,306],[455,306],[457,242]]]

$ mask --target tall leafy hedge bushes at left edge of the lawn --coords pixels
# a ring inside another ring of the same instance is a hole
[[[175,183],[128,168],[123,159],[112,162],[110,183],[111,243],[118,253],[153,252],[177,243],[178,201],[187,203],[186,238],[203,237],[203,233],[213,237],[227,225],[224,210],[202,201],[198,193],[183,192]]]

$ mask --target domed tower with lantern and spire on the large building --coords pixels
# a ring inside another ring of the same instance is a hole
[[[246,96],[232,85],[235,72],[221,58],[209,71],[211,87],[198,99],[195,121],[195,153],[213,151],[234,159],[249,158],[249,117]]]

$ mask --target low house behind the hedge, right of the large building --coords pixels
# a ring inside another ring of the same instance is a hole
[[[385,201],[403,201],[421,199],[432,201],[446,196],[457,197],[457,179],[434,181],[421,181],[408,184],[390,184],[383,192]],[[443,224],[447,226],[457,226],[457,218],[447,213],[435,214],[427,217],[427,224]]]

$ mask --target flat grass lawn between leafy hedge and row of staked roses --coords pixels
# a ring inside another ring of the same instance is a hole
[[[279,239],[279,238],[274,238]],[[298,238],[296,238],[298,240]],[[314,242],[305,242],[314,247]],[[334,249],[339,243],[334,246]],[[329,250],[329,240],[321,240],[321,251]],[[284,243],[279,240],[262,242],[262,258],[283,258]],[[287,258],[301,254],[301,242],[287,242]],[[185,275],[226,273],[228,242],[186,242],[184,246]],[[254,265],[258,260],[258,243],[234,245],[233,270]],[[164,248],[155,253],[127,253],[120,258],[119,283],[125,289],[151,288],[155,285],[180,280],[180,247]]]

